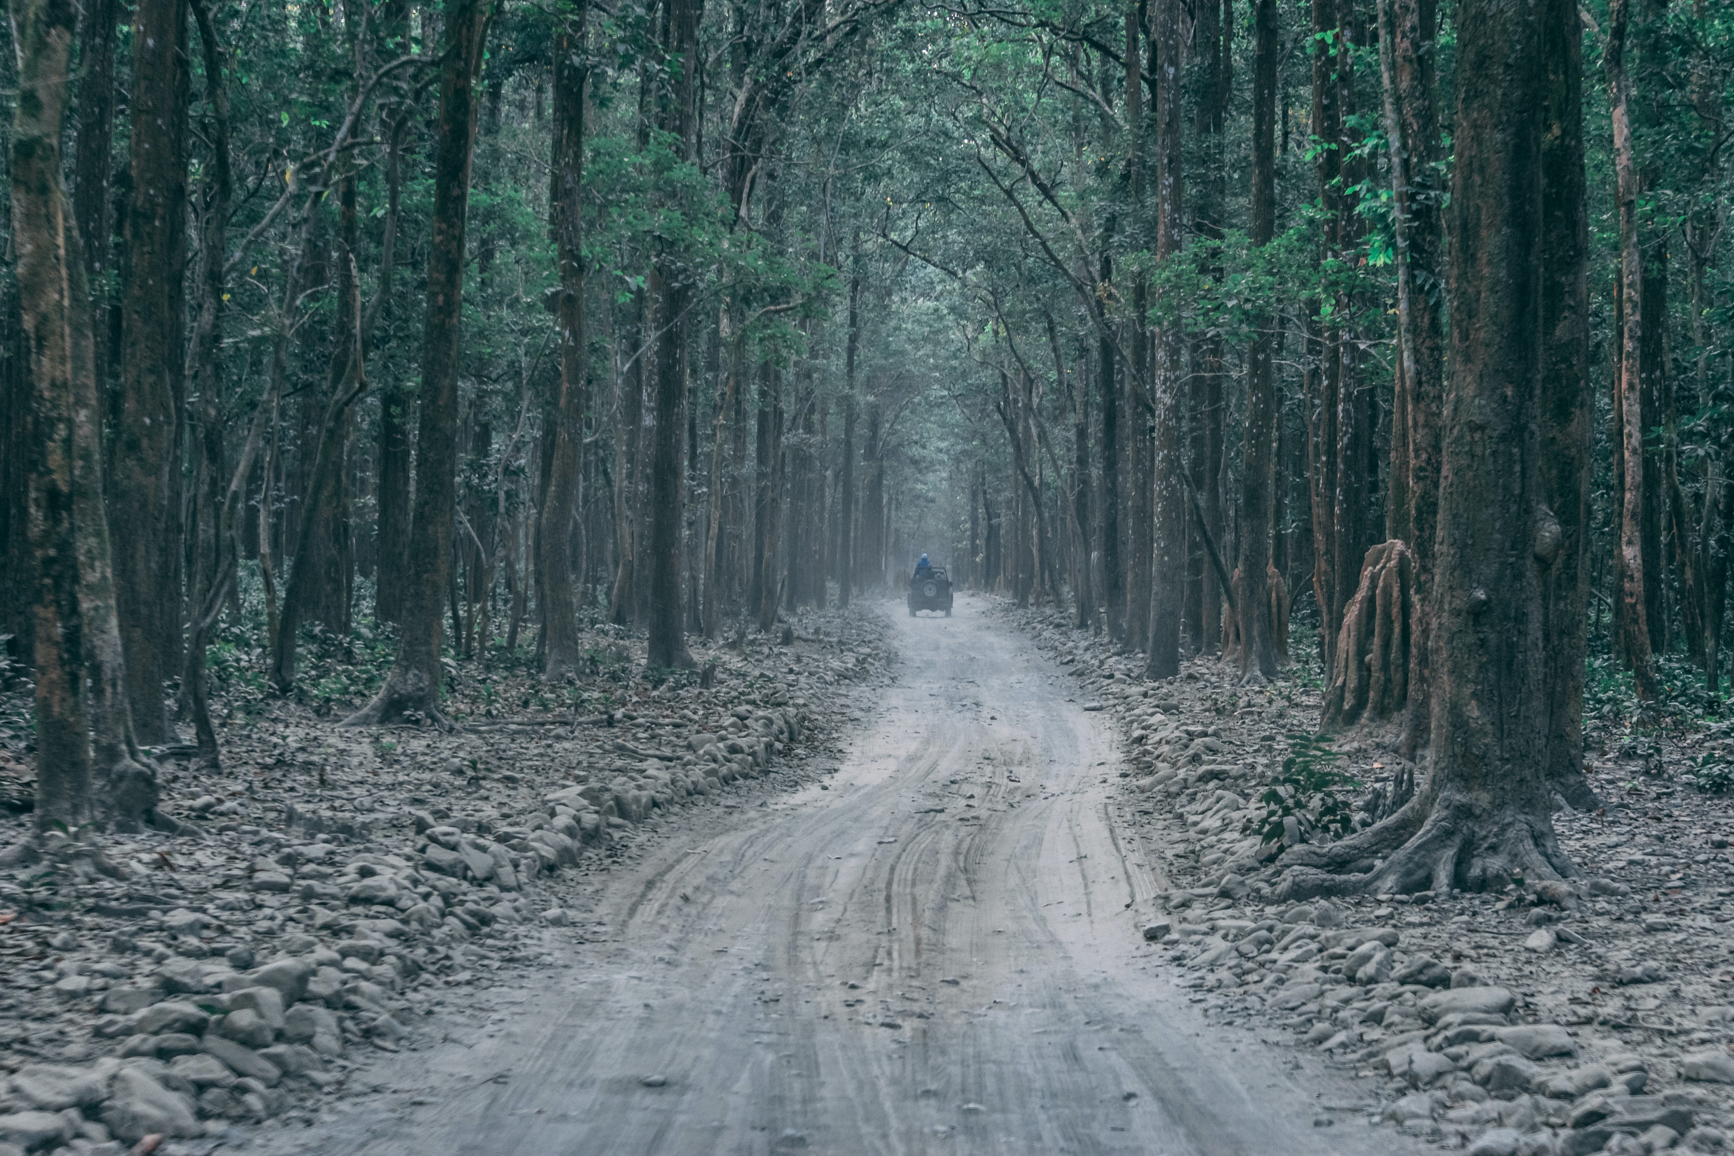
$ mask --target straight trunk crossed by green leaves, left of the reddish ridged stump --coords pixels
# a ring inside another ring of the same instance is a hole
[[[1252,9],[1252,243],[1266,246],[1276,232],[1276,0],[1254,0]],[[1276,678],[1276,622],[1271,617],[1271,537],[1276,459],[1276,367],[1273,317],[1261,321],[1247,352],[1247,426],[1242,451],[1240,565],[1240,672]]]

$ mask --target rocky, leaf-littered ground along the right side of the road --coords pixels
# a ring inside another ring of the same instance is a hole
[[[1476,1156],[1734,1144],[1727,801],[1604,759],[1607,806],[1555,815],[1587,872],[1569,891],[1274,905],[1281,842],[1254,834],[1259,794],[1318,695],[1242,688],[1216,660],[1148,683],[1051,612],[1006,614],[1118,723],[1122,818],[1172,880],[1143,936],[1216,1023],[1288,1029],[1365,1080],[1370,1125]],[[1358,808],[1408,770],[1342,756],[1366,783]]]

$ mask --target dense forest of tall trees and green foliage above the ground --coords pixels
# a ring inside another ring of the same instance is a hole
[[[21,0],[0,610],[38,822],[251,671],[558,683],[954,581],[1427,771],[1290,894],[1571,877],[1717,709],[1734,23],[1656,0]],[[388,667],[388,669],[385,669]],[[1488,702],[1509,718],[1491,718]],[[359,705],[359,704],[357,704]],[[1600,709],[1600,707],[1597,707]]]

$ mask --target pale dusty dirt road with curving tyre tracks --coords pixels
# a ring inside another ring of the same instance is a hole
[[[1139,941],[1127,905],[1162,880],[1120,839],[1113,737],[1072,681],[973,600],[896,622],[903,678],[827,789],[695,820],[609,879],[605,938],[492,993],[486,1029],[260,1147],[1392,1151],[1323,1073],[1207,1028]]]

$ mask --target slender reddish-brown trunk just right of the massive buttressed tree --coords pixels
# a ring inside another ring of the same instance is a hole
[[[1632,666],[1637,695],[1656,697],[1656,662],[1644,591],[1644,419],[1640,399],[1642,255],[1637,244],[1637,163],[1632,156],[1632,114],[1625,75],[1630,0],[1613,0],[1607,19],[1607,101],[1614,135],[1614,173],[1620,198],[1620,369],[1614,374],[1614,414],[1625,484],[1620,494],[1620,645]]]

